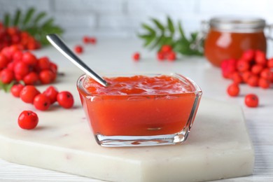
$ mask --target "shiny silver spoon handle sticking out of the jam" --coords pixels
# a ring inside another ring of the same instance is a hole
[[[78,56],[76,56],[68,47],[67,45],[64,43],[64,41],[62,41],[61,38],[59,38],[59,36],[57,36],[56,34],[48,34],[46,36],[46,38],[48,38],[48,41],[57,49],[59,50],[59,52],[62,53],[62,55],[64,55],[64,57],[66,57],[67,59],[69,59],[71,62],[73,62],[73,64],[75,64],[76,66],[78,66],[79,69],[81,69],[83,72],[85,72],[88,76],[90,76],[91,78],[93,78],[94,80],[96,80],[98,83],[100,83],[101,85],[103,85],[104,87],[107,87],[107,85],[109,85],[109,83],[106,82],[106,80],[104,80],[104,78],[102,78],[101,76],[99,76],[97,73],[95,73],[92,69],[90,69],[89,66],[87,66],[80,58],[78,58]]]

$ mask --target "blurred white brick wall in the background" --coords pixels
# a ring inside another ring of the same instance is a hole
[[[0,20],[5,12],[31,6],[54,17],[67,37],[134,38],[141,22],[166,15],[182,20],[186,32],[199,30],[200,21],[214,15],[252,15],[273,23],[269,0],[0,0]]]

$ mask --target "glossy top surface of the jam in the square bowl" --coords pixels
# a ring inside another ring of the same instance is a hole
[[[105,78],[109,86],[104,87],[92,78],[83,83],[90,94],[131,95],[131,94],[179,94],[192,92],[190,83],[186,85],[173,76],[130,76]]]

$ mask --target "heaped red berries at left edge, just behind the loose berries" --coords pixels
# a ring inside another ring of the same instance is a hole
[[[26,85],[52,83],[57,77],[57,64],[48,57],[37,58],[24,52],[17,45],[3,48],[0,52],[0,81],[8,84],[23,81]]]

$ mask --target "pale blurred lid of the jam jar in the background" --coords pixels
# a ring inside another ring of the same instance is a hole
[[[209,25],[222,31],[255,32],[263,30],[266,24],[262,18],[215,17],[209,20]]]

